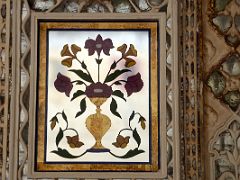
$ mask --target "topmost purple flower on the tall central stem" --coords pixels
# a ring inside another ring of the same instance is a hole
[[[102,51],[104,54],[109,56],[110,49],[114,47],[111,39],[108,38],[103,40],[102,36],[98,34],[96,40],[93,39],[86,40],[84,48],[88,49],[89,56],[93,55],[95,51],[97,51],[98,56],[100,56],[100,53]]]

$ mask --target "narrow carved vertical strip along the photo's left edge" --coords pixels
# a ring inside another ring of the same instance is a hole
[[[9,91],[10,91],[10,1],[0,1],[0,176],[8,177],[8,132],[9,132]]]

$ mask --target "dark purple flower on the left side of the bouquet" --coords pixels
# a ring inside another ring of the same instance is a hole
[[[54,81],[54,86],[59,92],[64,92],[68,97],[73,88],[71,79],[61,73],[58,73],[57,79]]]

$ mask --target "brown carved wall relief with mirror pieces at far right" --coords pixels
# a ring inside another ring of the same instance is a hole
[[[239,179],[239,5],[238,0],[203,1],[206,179]]]

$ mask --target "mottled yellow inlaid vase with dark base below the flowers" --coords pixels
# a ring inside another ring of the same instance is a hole
[[[102,145],[102,138],[111,127],[111,120],[101,113],[100,106],[106,102],[105,97],[91,97],[90,101],[96,106],[96,113],[91,114],[86,119],[86,127],[95,138],[95,144],[88,152],[109,152],[108,148]]]

